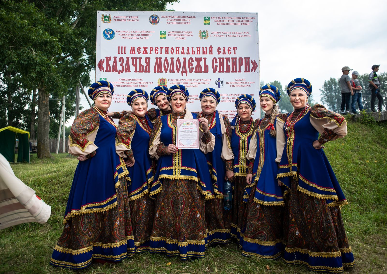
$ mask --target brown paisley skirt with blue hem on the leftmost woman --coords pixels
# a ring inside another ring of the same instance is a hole
[[[116,186],[117,206],[67,219],[50,264],[82,269],[93,259],[120,261],[134,253],[134,237],[125,176]]]

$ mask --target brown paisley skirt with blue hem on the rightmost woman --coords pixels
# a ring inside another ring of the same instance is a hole
[[[340,207],[300,192],[297,185],[294,179],[285,200],[285,262],[332,273],[353,267]]]

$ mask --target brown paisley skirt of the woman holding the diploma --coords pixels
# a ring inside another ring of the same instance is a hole
[[[156,200],[151,241],[152,253],[187,258],[204,257],[207,227],[204,196],[193,180],[163,179]]]

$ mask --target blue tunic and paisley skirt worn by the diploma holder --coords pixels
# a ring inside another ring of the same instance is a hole
[[[166,253],[187,258],[201,258],[207,247],[204,199],[213,198],[211,176],[207,161],[200,149],[178,149],[168,154],[166,147],[176,142],[176,120],[184,113],[171,113],[156,120],[151,147],[155,140],[159,155],[158,170],[152,185],[152,194],[158,193],[150,241],[152,253]],[[196,114],[192,113],[196,118]],[[208,144],[211,135],[204,134]]]

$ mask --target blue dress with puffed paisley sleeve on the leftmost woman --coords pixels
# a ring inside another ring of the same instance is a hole
[[[87,139],[98,128],[94,142]],[[70,147],[98,148],[75,170],[65,211],[65,228],[50,264],[82,269],[92,259],[120,261],[134,252],[123,159],[115,151],[116,125],[98,108],[75,118]]]

